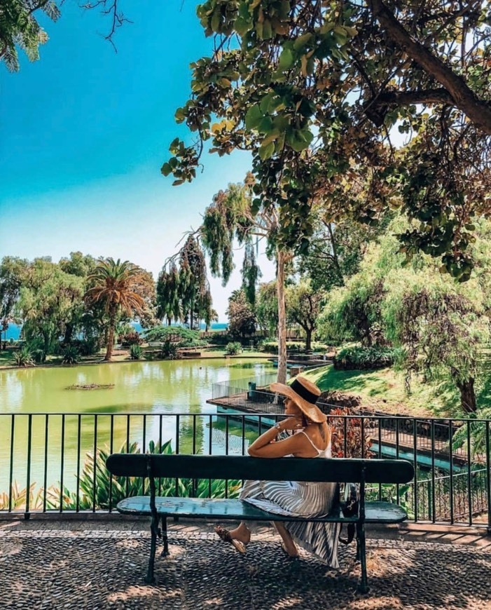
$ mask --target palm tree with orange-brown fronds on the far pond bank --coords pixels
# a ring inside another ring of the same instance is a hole
[[[144,299],[132,290],[132,280],[136,278],[139,269],[129,261],[114,262],[108,258],[99,262],[88,276],[91,287],[85,292],[85,301],[89,304],[102,303],[109,313],[109,332],[104,360],[111,360],[113,352],[114,330],[116,316],[119,311],[134,316],[144,309]]]

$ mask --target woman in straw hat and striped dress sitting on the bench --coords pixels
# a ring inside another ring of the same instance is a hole
[[[271,384],[271,390],[284,395],[285,414],[249,447],[249,455],[261,458],[295,456],[303,458],[331,457],[331,430],[326,416],[315,405],[320,390],[305,377],[298,376],[290,386]],[[291,431],[284,440],[277,440],[283,431]],[[277,481],[246,481],[240,499],[268,513],[292,517],[326,515],[336,496],[336,483],[305,483]],[[298,557],[296,544],[314,553],[331,567],[338,567],[338,523],[275,522],[282,538],[282,548],[290,557]],[[230,531],[217,526],[222,540],[245,553],[251,531],[242,522]]]

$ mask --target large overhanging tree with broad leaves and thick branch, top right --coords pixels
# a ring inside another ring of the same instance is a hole
[[[207,0],[214,54],[192,65],[176,113],[198,137],[174,140],[162,173],[193,179],[207,141],[219,155],[247,149],[254,205],[282,208],[277,243],[305,244],[317,200],[330,222],[401,205],[417,220],[406,255],[468,279],[473,218],[491,212],[488,6]],[[390,142],[398,129],[407,150]]]

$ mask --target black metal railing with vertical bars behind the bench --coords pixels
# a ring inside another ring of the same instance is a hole
[[[108,475],[104,461],[111,452],[247,454],[249,443],[281,417],[276,409],[247,414],[0,414],[0,515],[110,513],[123,497],[146,492],[145,482]],[[333,456],[394,457],[415,464],[413,482],[375,487],[373,497],[403,503],[415,522],[491,529],[490,420],[338,414],[328,419]],[[160,484],[161,494],[236,492],[237,482]]]

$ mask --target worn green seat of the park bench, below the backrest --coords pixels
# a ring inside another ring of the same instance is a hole
[[[335,514],[327,517],[285,517],[273,515],[256,508],[248,502],[234,499],[203,499],[156,497],[155,508],[159,515],[176,517],[194,517],[200,519],[223,519],[239,521],[314,521],[314,522],[356,522],[357,517],[343,517],[338,509]],[[123,515],[150,515],[150,498],[135,496],[118,503],[117,507]],[[366,523],[399,523],[407,519],[406,511],[389,502],[366,502]]]

